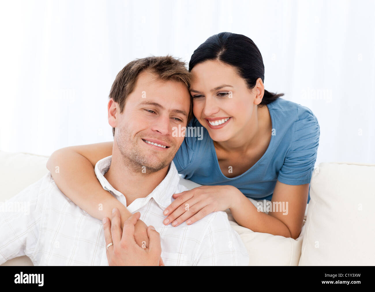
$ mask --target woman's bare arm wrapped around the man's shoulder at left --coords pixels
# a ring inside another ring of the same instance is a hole
[[[62,148],[52,153],[46,166],[58,188],[74,204],[100,220],[112,218],[112,209],[118,208],[123,226],[132,214],[103,189],[94,171],[99,160],[112,155],[112,147],[113,142],[104,142]]]

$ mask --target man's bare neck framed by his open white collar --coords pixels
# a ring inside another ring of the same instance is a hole
[[[135,199],[147,197],[165,178],[169,167],[152,174],[134,171],[126,165],[119,151],[113,151],[110,169],[104,174],[108,183],[126,198],[126,207]],[[146,170],[147,171],[147,170]]]

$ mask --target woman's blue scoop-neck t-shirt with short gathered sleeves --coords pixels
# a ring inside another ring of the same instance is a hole
[[[185,134],[173,159],[178,173],[198,184],[235,186],[252,199],[271,200],[277,180],[290,185],[310,183],[320,136],[317,118],[306,106],[281,97],[267,106],[272,120],[271,141],[250,169],[233,178],[223,175],[213,141],[194,117],[187,126],[202,127],[201,138]]]

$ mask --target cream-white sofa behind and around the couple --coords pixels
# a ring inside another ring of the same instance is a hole
[[[48,171],[47,159],[0,151],[0,204],[39,180]],[[253,232],[239,226],[226,210],[248,249],[249,265],[374,265],[374,178],[374,164],[321,163],[313,173],[311,200],[296,240]],[[189,189],[199,186],[183,178],[181,183]],[[257,206],[256,200],[250,201]],[[22,256],[3,265],[32,263]]]

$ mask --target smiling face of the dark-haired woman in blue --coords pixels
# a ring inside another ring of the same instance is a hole
[[[257,90],[250,90],[234,67],[217,60],[195,65],[191,74],[193,113],[211,139],[222,142],[243,136],[259,103]]]

